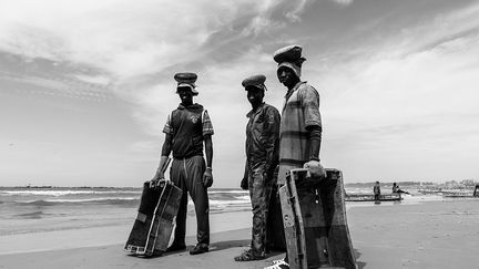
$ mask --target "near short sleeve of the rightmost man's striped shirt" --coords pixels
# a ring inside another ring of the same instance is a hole
[[[316,89],[305,85],[299,94],[299,102],[303,107],[305,127],[322,126],[319,114],[319,94]]]

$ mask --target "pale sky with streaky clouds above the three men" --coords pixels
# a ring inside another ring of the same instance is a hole
[[[190,71],[214,187],[238,187],[241,82],[265,74],[281,111],[273,53],[289,44],[345,183],[479,180],[479,1],[0,0],[0,185],[141,186]]]

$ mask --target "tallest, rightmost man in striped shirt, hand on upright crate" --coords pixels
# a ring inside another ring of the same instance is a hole
[[[324,178],[326,172],[319,163],[322,142],[322,118],[319,114],[318,92],[300,81],[303,49],[289,45],[277,50],[274,60],[278,63],[277,76],[287,92],[282,112],[279,131],[279,172],[278,187],[285,184],[286,173],[294,168],[308,168],[313,178]],[[316,195],[314,188],[302,195]],[[285,259],[274,261],[265,269],[289,268]]]

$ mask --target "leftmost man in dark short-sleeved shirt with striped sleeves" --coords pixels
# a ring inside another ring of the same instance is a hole
[[[193,200],[196,211],[196,239],[197,245],[190,250],[191,255],[208,251],[210,246],[210,203],[207,188],[213,184],[212,158],[214,133],[213,125],[206,110],[193,103],[196,96],[195,73],[177,73],[174,75],[177,82],[176,93],[181,103],[167,117],[163,128],[165,141],[163,143],[160,166],[167,162],[173,152],[173,163],[170,169],[172,182],[183,190],[180,209],[176,216],[174,241],[167,251],[186,249],[186,213],[187,193]],[[206,164],[203,158],[203,143],[206,153]],[[156,170],[152,182],[164,178],[161,168]]]

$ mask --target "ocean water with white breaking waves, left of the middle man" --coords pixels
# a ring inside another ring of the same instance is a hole
[[[132,224],[141,188],[0,187],[0,236]],[[247,190],[210,189],[211,214],[251,210]],[[194,215],[188,201],[188,215]]]

